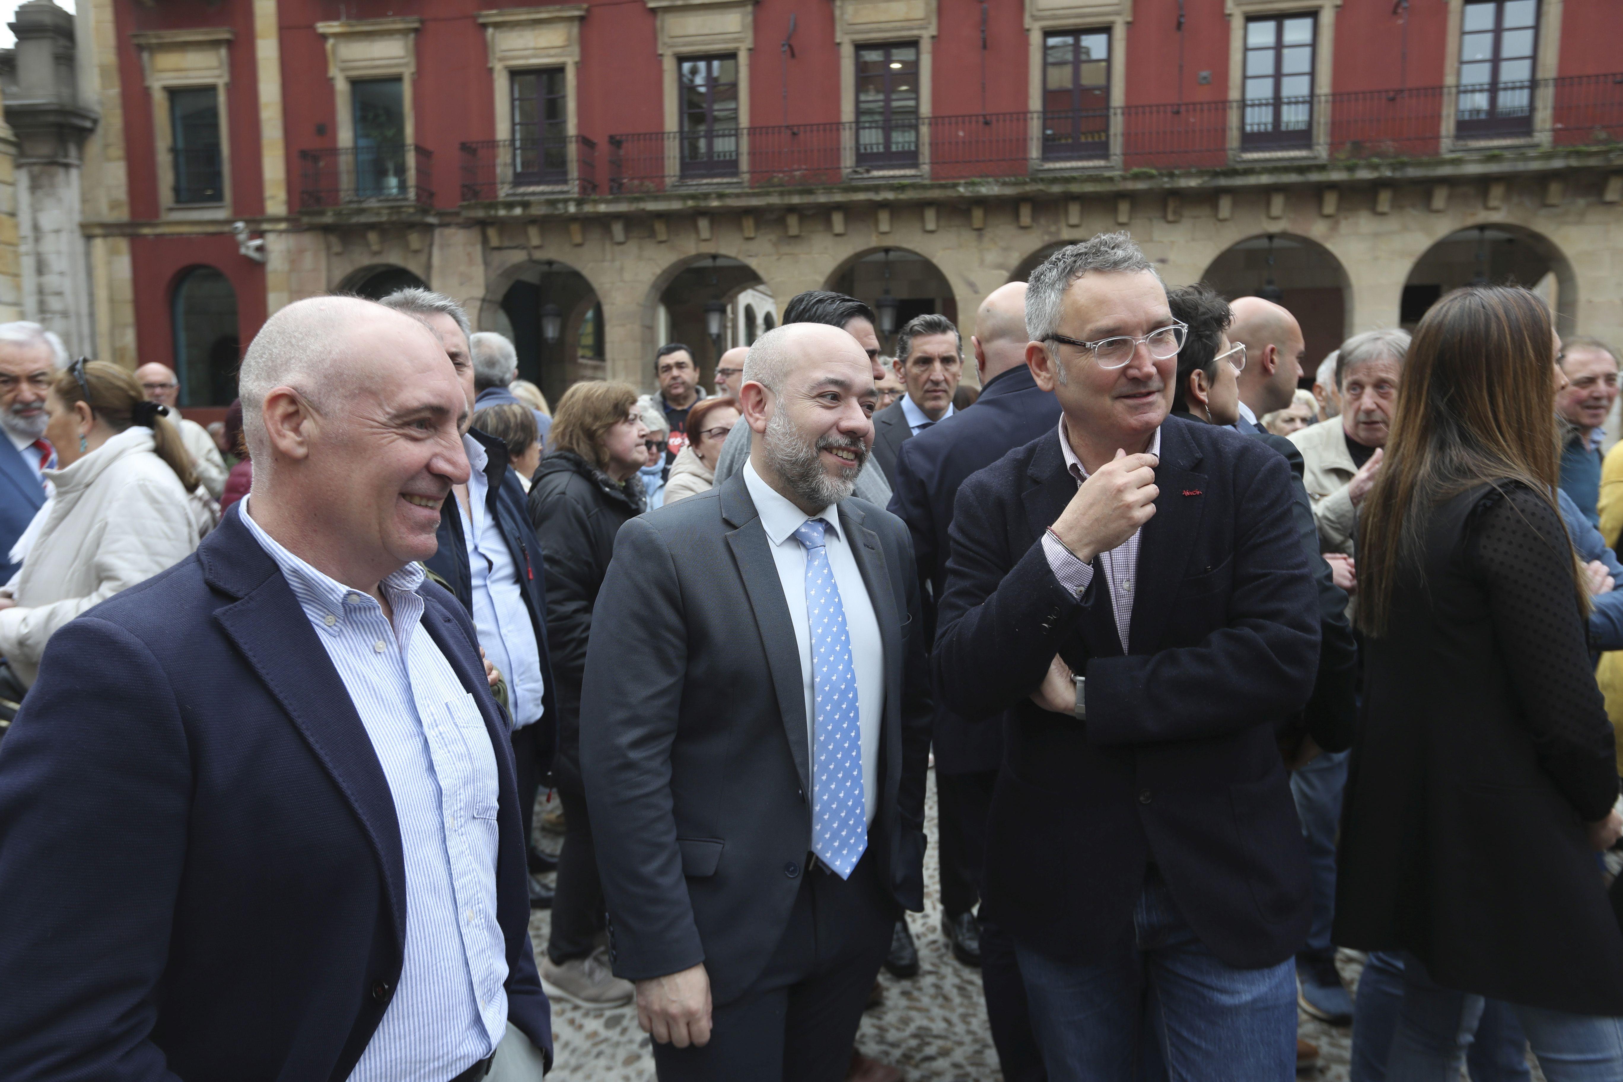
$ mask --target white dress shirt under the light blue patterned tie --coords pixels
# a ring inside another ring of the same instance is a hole
[[[789,621],[795,626],[795,644],[800,647],[800,685],[807,702],[807,762],[816,762],[816,707],[812,688],[812,625],[807,620],[807,550],[795,540],[802,522],[823,519],[828,529],[823,543],[828,550],[828,566],[839,587],[839,602],[846,610],[846,633],[850,636],[850,663],[857,670],[857,717],[862,727],[862,795],[873,824],[880,806],[880,723],[885,719],[885,642],[880,639],[880,621],[873,615],[873,599],[862,581],[862,569],[839,521],[839,508],[829,505],[816,514],[807,514],[776,488],[761,480],[755,462],[743,467],[743,483],[750,500],[761,516],[761,527],[773,547],[777,577],[784,584],[784,600],[789,602]],[[807,800],[812,795],[807,793]],[[807,848],[810,848],[810,837]]]

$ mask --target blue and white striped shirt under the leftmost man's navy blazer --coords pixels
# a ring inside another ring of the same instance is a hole
[[[242,521],[281,568],[372,738],[406,858],[399,985],[351,1082],[445,1082],[506,1032],[506,941],[497,923],[497,759],[474,698],[420,626],[422,568],[349,589]]]

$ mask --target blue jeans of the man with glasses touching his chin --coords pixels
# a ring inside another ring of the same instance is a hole
[[[1133,910],[1134,942],[1104,965],[1016,947],[1050,1082],[1131,1082],[1139,1035],[1169,1082],[1290,1082],[1297,1064],[1292,962],[1238,970],[1208,951],[1151,873]],[[1151,1004],[1147,1014],[1143,1004]]]

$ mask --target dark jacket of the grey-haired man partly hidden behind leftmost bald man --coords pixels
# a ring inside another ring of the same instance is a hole
[[[547,576],[542,568],[540,542],[536,540],[536,530],[529,524],[524,485],[519,483],[518,474],[508,469],[506,444],[477,428],[467,435],[477,440],[479,446],[485,449],[485,506],[490,508],[490,517],[495,519],[497,527],[502,530],[508,553],[518,568],[518,589],[524,595],[524,607],[529,610],[529,621],[536,629],[542,680],[539,722],[542,727],[542,741],[537,754],[542,756],[542,767],[545,769],[545,762],[552,758],[552,749],[557,745],[558,696],[552,689],[552,663],[547,657]],[[440,548],[433,553],[433,558],[424,561],[424,566],[440,576],[450,590],[456,594],[456,600],[463,602],[463,608],[472,615],[474,582],[472,573],[467,568],[463,508],[456,501],[454,492],[445,498],[445,506],[440,508],[440,532],[437,537]],[[503,673],[503,676],[508,678],[508,686],[511,686],[511,673]],[[534,719],[523,720],[534,722]]]

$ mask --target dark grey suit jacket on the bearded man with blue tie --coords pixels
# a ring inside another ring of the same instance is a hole
[[[930,686],[907,527],[839,505],[885,644],[868,847],[889,899],[923,908]],[[812,837],[808,730],[771,542],[743,477],[620,527],[581,689],[581,775],[613,972],[704,962],[742,996],[784,934]],[[876,900],[878,902],[878,900]]]

